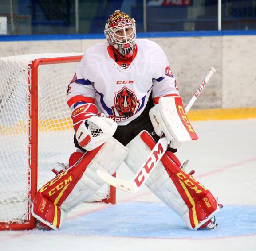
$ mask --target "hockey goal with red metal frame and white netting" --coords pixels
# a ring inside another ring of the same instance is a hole
[[[0,230],[36,227],[31,201],[75,151],[67,85],[80,53],[0,58]],[[104,199],[105,198],[105,199]],[[115,203],[107,184],[88,202]]]

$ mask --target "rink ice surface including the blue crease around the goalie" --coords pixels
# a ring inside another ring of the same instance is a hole
[[[255,251],[256,119],[192,123],[199,140],[177,156],[219,197],[219,226],[191,231],[146,187],[117,191],[117,204],[83,203],[59,231],[0,232],[0,251]],[[120,178],[132,177],[121,166]]]

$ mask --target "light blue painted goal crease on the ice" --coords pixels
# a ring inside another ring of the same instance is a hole
[[[60,232],[137,238],[204,239],[256,234],[256,206],[226,205],[214,230],[189,230],[163,203],[129,202],[69,220]],[[58,231],[58,232],[59,232]]]

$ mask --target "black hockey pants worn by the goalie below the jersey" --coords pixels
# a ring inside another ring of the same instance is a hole
[[[157,142],[159,137],[156,135],[153,125],[150,120],[149,111],[154,106],[153,100],[150,98],[146,108],[142,114],[131,121],[125,126],[118,126],[113,137],[117,139],[120,143],[126,146],[132,139],[134,139],[142,130],[146,130],[150,133],[153,139]],[[79,146],[75,136],[74,136],[75,147],[79,148],[82,151],[85,151],[82,147]],[[176,149],[169,149],[172,152],[176,152]]]

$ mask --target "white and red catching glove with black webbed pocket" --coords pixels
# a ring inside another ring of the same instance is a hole
[[[114,135],[117,123],[98,114],[95,104],[87,103],[75,108],[71,114],[75,129],[75,138],[79,146],[91,151]]]

